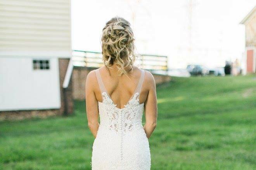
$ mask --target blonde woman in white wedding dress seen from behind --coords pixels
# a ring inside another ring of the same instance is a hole
[[[134,40],[128,21],[109,20],[101,39],[104,66],[86,79],[88,126],[95,137],[92,170],[150,169],[148,138],[156,128],[156,85],[150,72],[133,65]]]

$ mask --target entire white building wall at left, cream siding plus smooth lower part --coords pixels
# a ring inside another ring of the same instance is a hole
[[[60,108],[63,57],[71,57],[70,0],[0,0],[0,111]],[[50,59],[50,70],[33,70],[33,58]]]

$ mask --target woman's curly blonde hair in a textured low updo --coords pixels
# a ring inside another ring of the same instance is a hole
[[[106,23],[102,30],[102,59],[109,70],[114,63],[118,66],[118,74],[127,74],[125,68],[133,66],[135,46],[131,24],[121,17],[114,17]],[[130,71],[130,70],[129,70]],[[131,68],[132,71],[132,68]]]

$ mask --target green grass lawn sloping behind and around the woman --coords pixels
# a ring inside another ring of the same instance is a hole
[[[256,169],[255,75],[173,77],[157,97],[152,170]],[[0,122],[0,169],[89,170],[84,103],[70,117]]]

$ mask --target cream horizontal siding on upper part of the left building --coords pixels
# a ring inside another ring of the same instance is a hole
[[[70,0],[0,0],[0,56],[71,56]]]

